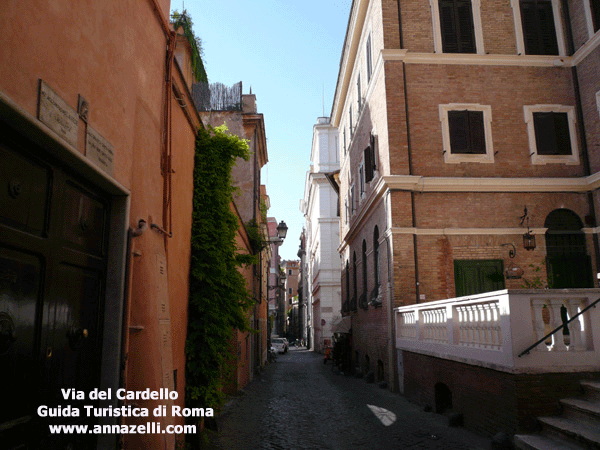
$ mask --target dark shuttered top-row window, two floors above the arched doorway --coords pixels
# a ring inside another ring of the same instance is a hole
[[[558,55],[554,12],[550,0],[521,0],[525,53]]]

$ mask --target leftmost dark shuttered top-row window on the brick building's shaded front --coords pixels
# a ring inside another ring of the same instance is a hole
[[[471,0],[439,0],[442,51],[475,53],[475,26]]]

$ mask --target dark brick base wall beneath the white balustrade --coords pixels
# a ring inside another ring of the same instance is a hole
[[[580,380],[600,375],[514,375],[406,351],[402,359],[409,401],[435,410],[435,385],[443,383],[452,393],[452,412],[462,413],[465,427],[484,436],[531,431],[535,417],[557,413],[559,399],[580,393]]]

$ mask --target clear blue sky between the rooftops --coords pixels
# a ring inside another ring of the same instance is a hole
[[[211,83],[243,82],[264,114],[269,163],[262,182],[268,215],[289,229],[280,248],[297,259],[304,217],[299,210],[310,165],[312,128],[331,113],[352,0],[172,0],[189,13],[202,39]]]

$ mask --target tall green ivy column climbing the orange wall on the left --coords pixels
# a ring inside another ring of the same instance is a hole
[[[231,169],[236,158],[248,160],[247,141],[225,125],[201,129],[196,138],[190,300],[186,342],[186,403],[218,408],[224,396],[230,339],[235,329],[248,331],[254,300],[239,272],[253,263],[236,247],[238,218],[231,210]]]

